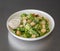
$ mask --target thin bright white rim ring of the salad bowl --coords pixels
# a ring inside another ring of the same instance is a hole
[[[20,12],[20,11],[27,11],[27,10],[33,10],[33,11],[37,11],[37,12],[40,11],[40,12],[43,12],[43,13],[45,13],[46,15],[50,16],[50,18],[53,20],[53,28],[51,29],[51,31],[48,32],[48,33],[46,33],[45,35],[43,35],[43,36],[41,36],[41,37],[38,37],[38,38],[23,38],[23,37],[19,37],[19,36],[15,35],[14,33],[12,33],[12,32],[10,31],[9,27],[8,27],[8,19],[9,19],[13,14],[15,14],[15,13],[18,13],[18,12]],[[15,13],[13,13],[12,15],[10,15],[9,18],[7,19],[7,22],[6,22],[6,26],[7,26],[8,32],[9,32],[12,36],[14,36],[15,38],[20,39],[20,40],[25,40],[25,41],[36,41],[36,40],[41,40],[41,39],[47,37],[47,36],[50,35],[50,33],[53,31],[53,29],[54,29],[54,27],[55,27],[55,21],[54,21],[53,17],[52,17],[50,14],[48,14],[48,13],[46,13],[46,12],[44,12],[44,11],[41,11],[41,10],[36,10],[36,9],[25,9],[25,10],[20,10],[20,11],[17,11],[17,12],[15,12]]]

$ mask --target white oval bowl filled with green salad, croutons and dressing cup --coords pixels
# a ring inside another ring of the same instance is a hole
[[[7,20],[9,32],[19,39],[28,41],[48,36],[54,25],[54,20],[48,13],[33,9],[18,11]]]

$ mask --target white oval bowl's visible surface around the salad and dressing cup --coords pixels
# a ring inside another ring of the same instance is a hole
[[[29,13],[35,13],[35,14],[39,14],[39,15],[41,15],[41,16],[44,16],[46,19],[49,20],[50,32],[46,33],[44,36],[41,36],[41,37],[38,37],[38,38],[33,38],[33,39],[32,39],[32,38],[18,37],[18,36],[16,36],[15,34],[13,34],[12,31],[11,31],[11,29],[8,27],[8,23],[9,23],[9,21],[10,21],[11,19],[20,18],[20,15],[21,15],[22,13],[27,13],[27,14],[29,14]],[[8,20],[7,20],[7,28],[8,28],[8,31],[9,31],[13,36],[15,36],[15,37],[17,37],[17,38],[19,38],[19,39],[28,40],[28,41],[39,40],[39,39],[42,39],[42,38],[48,36],[48,35],[52,32],[52,30],[54,29],[54,25],[55,25],[55,24],[54,24],[54,20],[53,20],[53,18],[52,18],[48,13],[43,12],[43,11],[40,11],[40,10],[34,10],[34,9],[28,9],[28,10],[18,11],[18,12],[16,12],[16,13],[12,14],[12,15],[8,18]]]

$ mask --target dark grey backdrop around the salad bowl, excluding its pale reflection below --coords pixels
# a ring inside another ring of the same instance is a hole
[[[0,0],[0,51],[9,51],[7,18],[14,12],[23,9],[43,10],[53,16],[55,29],[52,34],[52,45],[47,51],[60,51],[60,2],[59,0]]]

